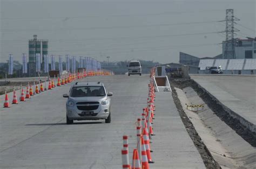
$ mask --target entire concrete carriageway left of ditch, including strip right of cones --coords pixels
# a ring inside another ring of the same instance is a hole
[[[123,135],[129,136],[131,160],[136,147],[135,123],[146,106],[149,76],[83,79],[87,80],[100,80],[113,92],[112,123],[75,121],[66,125],[66,99],[62,95],[68,93],[71,84],[44,91],[11,108],[0,108],[0,168],[121,168]],[[156,163],[151,168],[203,168],[176,107],[169,104],[173,102],[171,94],[160,101],[153,126],[158,136],[152,140]]]

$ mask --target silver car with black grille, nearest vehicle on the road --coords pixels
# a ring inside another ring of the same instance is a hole
[[[102,82],[76,82],[70,88],[69,94],[63,97],[66,101],[66,124],[73,124],[74,120],[105,119],[111,122],[110,96]]]

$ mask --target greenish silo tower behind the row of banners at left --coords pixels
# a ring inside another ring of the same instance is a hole
[[[33,35],[33,39],[29,40],[29,76],[35,76],[36,73],[36,54],[40,54],[41,63],[44,62],[43,55],[48,54],[48,40],[37,39],[37,35]]]

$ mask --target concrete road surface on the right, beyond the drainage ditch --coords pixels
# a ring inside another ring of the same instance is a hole
[[[226,107],[246,119],[256,131],[255,75],[191,75]]]

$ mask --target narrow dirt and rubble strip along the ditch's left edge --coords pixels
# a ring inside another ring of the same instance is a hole
[[[171,84],[172,84],[172,82],[171,82]],[[219,164],[213,159],[212,154],[207,149],[203,140],[200,138],[200,136],[198,135],[198,132],[194,128],[192,122],[185,114],[183,107],[182,107],[182,105],[179,101],[179,98],[177,96],[177,92],[174,89],[174,85],[171,85],[171,88],[172,88],[172,97],[173,97],[174,103],[176,104],[176,107],[177,107],[177,110],[181,117],[181,120],[184,123],[185,128],[186,128],[188,134],[190,135],[190,138],[193,140],[194,145],[197,147],[197,150],[200,153],[201,158],[203,159],[206,168],[214,168],[214,169],[221,168],[219,166]]]

